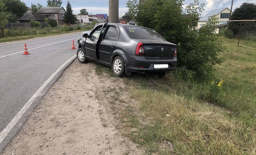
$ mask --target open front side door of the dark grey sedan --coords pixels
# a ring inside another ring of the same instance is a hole
[[[96,55],[97,44],[98,44],[98,40],[100,38],[101,33],[103,33],[104,31],[103,26],[104,25],[97,26],[86,39],[85,52],[87,57],[90,57],[92,59],[97,59],[97,55]]]

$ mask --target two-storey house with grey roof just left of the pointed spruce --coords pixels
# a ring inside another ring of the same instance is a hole
[[[37,13],[43,14],[48,18],[55,19],[58,24],[64,24],[64,13],[63,7],[41,7]]]

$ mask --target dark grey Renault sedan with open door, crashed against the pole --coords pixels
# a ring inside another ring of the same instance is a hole
[[[158,72],[175,69],[177,47],[155,30],[120,23],[101,23],[78,40],[80,63],[89,59],[112,67],[117,76],[131,72]]]

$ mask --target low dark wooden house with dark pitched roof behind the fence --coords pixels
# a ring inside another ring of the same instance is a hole
[[[22,16],[21,18],[18,18],[19,23],[29,23],[31,20],[38,21],[42,25],[44,24],[44,19],[47,18],[46,16],[39,14],[39,13],[28,13]]]

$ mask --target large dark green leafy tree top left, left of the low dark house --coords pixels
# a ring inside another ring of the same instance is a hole
[[[13,14],[11,15],[11,18],[14,20],[23,16],[23,14],[25,14],[28,10],[25,2],[21,2],[21,0],[2,0],[2,2],[4,2],[5,6],[7,7],[6,11]],[[9,21],[12,20],[9,19]]]

